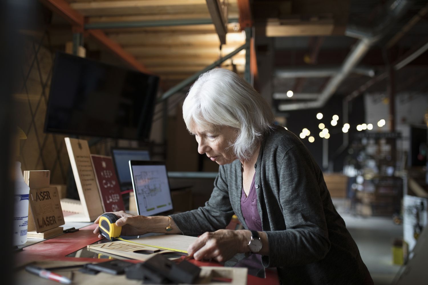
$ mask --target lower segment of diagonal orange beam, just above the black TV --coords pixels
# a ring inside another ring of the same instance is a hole
[[[120,58],[122,58],[126,63],[131,65],[136,70],[145,72],[145,73],[151,73],[146,69],[144,65],[138,62],[133,55],[131,55],[130,53],[127,53],[120,46],[120,44],[116,43],[116,41],[113,41],[111,38],[107,37],[107,35],[100,29],[90,29],[86,32],[89,35],[91,35],[92,38],[95,38],[95,40],[103,44],[105,47],[107,47],[108,50],[110,50],[116,56],[119,56]]]

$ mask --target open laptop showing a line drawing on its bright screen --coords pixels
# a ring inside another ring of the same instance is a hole
[[[129,169],[138,214],[172,214],[171,190],[165,163],[130,160]]]

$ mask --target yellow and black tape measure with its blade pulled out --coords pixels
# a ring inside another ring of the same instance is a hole
[[[116,238],[120,241],[126,241],[126,242],[130,242],[133,244],[140,244],[140,243],[137,243],[135,241],[128,241],[128,240],[120,237],[120,234],[122,232],[122,227],[116,226],[117,220],[119,220],[119,217],[117,217],[113,213],[102,214],[100,217],[100,220],[99,220],[99,229],[100,229],[101,235],[103,235],[109,241],[113,241]],[[179,253],[187,253],[187,251],[185,251],[185,250],[176,250],[176,249],[168,248],[168,247],[158,247],[156,245],[151,245],[151,244],[140,244],[140,245],[143,245],[145,247],[155,247],[155,248],[158,248],[160,250],[171,250],[171,251],[176,251]]]

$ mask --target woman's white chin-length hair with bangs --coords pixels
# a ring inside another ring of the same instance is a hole
[[[248,160],[274,118],[268,102],[244,79],[223,68],[199,76],[183,103],[183,119],[190,131],[194,124],[205,129],[237,129],[231,142],[235,156]]]

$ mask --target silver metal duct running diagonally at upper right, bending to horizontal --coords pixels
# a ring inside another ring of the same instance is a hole
[[[342,81],[349,75],[349,73],[351,73],[360,60],[363,59],[370,47],[372,47],[376,41],[388,32],[392,24],[394,24],[395,21],[397,21],[397,19],[407,11],[411,3],[412,2],[410,0],[391,0],[386,3],[385,16],[373,29],[358,28],[352,25],[348,26],[345,35],[359,38],[360,40],[354,45],[348,56],[346,56],[339,73],[334,75],[327,83],[321,94],[318,94],[318,100],[303,103],[280,104],[278,106],[279,111],[293,111],[323,107],[327,100],[330,99],[334,92],[336,92],[336,89]]]

